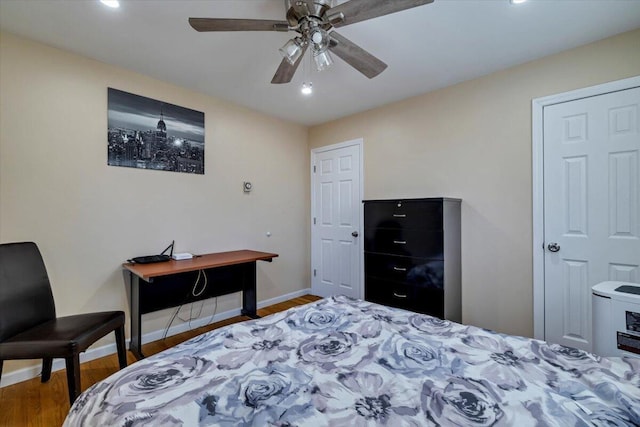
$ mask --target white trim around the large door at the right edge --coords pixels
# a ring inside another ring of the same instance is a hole
[[[544,336],[544,108],[562,102],[640,87],[640,76],[536,98],[532,101],[533,336]]]

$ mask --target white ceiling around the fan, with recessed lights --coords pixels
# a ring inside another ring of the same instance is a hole
[[[307,71],[315,92],[305,97],[305,70],[270,83],[291,34],[198,33],[187,22],[284,20],[283,0],[120,2],[0,0],[0,29],[314,125],[640,28],[639,0],[435,0],[340,28],[389,67],[369,80],[334,55],[331,69]]]

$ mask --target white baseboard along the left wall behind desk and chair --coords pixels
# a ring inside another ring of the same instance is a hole
[[[286,295],[281,295],[279,297],[270,298],[268,300],[264,300],[258,303],[258,308],[264,308],[273,304],[278,304],[293,298],[298,298],[303,295],[308,295],[311,293],[311,289],[302,289],[299,291],[291,292]],[[240,316],[240,308],[228,310],[222,313],[217,313],[213,316],[213,320],[211,320],[211,316],[204,316],[199,319],[194,319],[191,321],[191,326],[189,326],[189,322],[182,323],[180,325],[172,326],[169,328],[167,332],[167,336],[170,337],[172,335],[181,334],[190,329],[196,329],[201,326],[205,326],[208,323],[215,323],[221,320],[229,319],[231,317]],[[164,329],[148,332],[142,335],[142,343],[146,344],[149,342],[157,341],[162,339],[164,336]],[[127,349],[129,348],[129,340],[127,340]],[[90,348],[84,353],[80,354],[80,363],[88,362],[90,360],[99,359],[104,356],[108,356],[110,354],[116,353],[116,344],[107,344],[101,347]],[[64,360],[62,359],[54,359],[53,366],[51,371],[59,371],[64,369]],[[26,368],[18,369],[15,371],[7,372],[2,374],[2,378],[0,379],[0,388],[6,387],[8,385],[16,384],[22,381],[30,380],[32,378],[36,378],[40,375],[40,371],[42,370],[42,363],[37,365],[29,366]]]

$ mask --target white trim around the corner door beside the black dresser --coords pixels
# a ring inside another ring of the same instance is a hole
[[[318,260],[319,254],[315,253],[314,251],[314,239],[318,238],[317,236],[317,231],[316,231],[316,227],[314,227],[313,225],[313,219],[314,217],[318,216],[318,212],[316,212],[317,206],[316,206],[316,190],[315,190],[315,176],[314,175],[314,166],[316,165],[316,160],[317,157],[321,154],[321,153],[325,153],[327,151],[332,151],[332,150],[338,150],[338,149],[343,149],[343,148],[348,148],[348,147],[355,147],[358,150],[359,153],[359,171],[358,171],[358,176],[359,176],[359,185],[357,188],[357,191],[359,193],[359,203],[358,203],[358,217],[360,219],[360,229],[357,230],[359,233],[359,238],[358,238],[358,246],[360,248],[359,250],[359,256],[358,256],[358,266],[357,268],[359,269],[359,293],[360,293],[360,298],[364,299],[364,251],[363,251],[363,241],[362,239],[364,238],[364,233],[363,233],[363,227],[364,227],[364,208],[362,206],[362,198],[364,196],[364,157],[363,157],[363,151],[364,151],[364,140],[362,138],[358,138],[358,139],[354,139],[351,141],[345,141],[345,142],[341,142],[341,143],[337,143],[337,144],[332,144],[332,145],[327,145],[327,146],[323,146],[323,147],[318,147],[318,148],[314,148],[311,150],[311,167],[310,167],[310,174],[311,174],[311,179],[310,179],[310,183],[311,183],[311,274],[310,274],[310,279],[311,279],[311,283],[309,284],[309,287],[312,288],[313,290],[313,273],[314,273],[314,266],[316,265],[315,263]]]

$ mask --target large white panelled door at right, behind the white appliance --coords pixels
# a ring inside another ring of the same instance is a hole
[[[640,281],[640,88],[543,117],[545,339],[591,351],[591,287]]]

